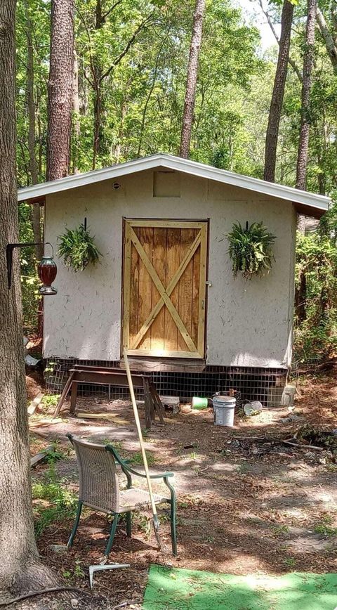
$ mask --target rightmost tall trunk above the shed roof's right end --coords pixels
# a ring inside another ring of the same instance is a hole
[[[296,168],[296,188],[300,188],[302,190],[305,190],[307,178],[310,130],[310,89],[312,67],[315,60],[316,11],[317,0],[308,0],[308,18],[305,28],[305,53],[303,58],[300,140],[298,143]]]

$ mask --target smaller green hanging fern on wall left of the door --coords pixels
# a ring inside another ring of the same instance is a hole
[[[95,264],[103,256],[95,246],[94,239],[84,224],[67,229],[63,235],[58,236],[58,255],[63,258],[67,267],[72,267],[74,271],[83,271],[89,263]]]

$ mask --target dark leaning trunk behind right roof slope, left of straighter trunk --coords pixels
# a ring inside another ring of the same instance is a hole
[[[269,182],[275,181],[277,140],[279,137],[279,122],[281,119],[284,88],[286,86],[292,20],[293,4],[291,4],[289,0],[284,0],[281,18],[281,37],[279,39],[279,57],[277,60],[274,89],[272,91],[272,101],[270,103],[267,135],[265,138],[264,179]]]

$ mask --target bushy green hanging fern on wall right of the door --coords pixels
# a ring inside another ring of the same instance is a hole
[[[234,223],[231,233],[227,235],[230,242],[229,254],[233,264],[233,275],[242,273],[244,278],[268,273],[275,261],[272,245],[275,235],[267,231],[262,222],[253,222],[246,228]]]

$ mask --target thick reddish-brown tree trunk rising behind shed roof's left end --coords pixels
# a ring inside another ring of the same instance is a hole
[[[73,80],[74,0],[52,0],[47,180],[56,180],[69,173]]]

